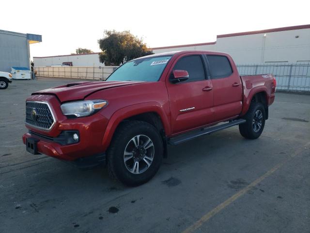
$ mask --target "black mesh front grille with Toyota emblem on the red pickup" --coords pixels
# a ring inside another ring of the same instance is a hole
[[[47,103],[26,102],[26,123],[45,130],[49,130],[54,119]]]

